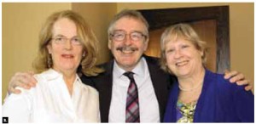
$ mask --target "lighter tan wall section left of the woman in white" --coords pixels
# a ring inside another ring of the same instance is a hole
[[[71,3],[2,3],[2,99],[15,72],[32,70],[46,18],[64,9],[71,9]]]

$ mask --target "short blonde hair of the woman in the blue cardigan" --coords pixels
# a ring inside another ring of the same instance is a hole
[[[207,47],[206,42],[201,41],[200,37],[197,35],[195,30],[189,24],[176,24],[171,25],[170,27],[166,28],[160,38],[160,66],[161,69],[166,70],[167,72],[172,74],[172,70],[168,69],[166,65],[166,44],[168,42],[176,41],[179,38],[183,38],[192,42],[195,48],[201,52],[203,55],[201,56],[202,64],[206,65],[207,62]]]

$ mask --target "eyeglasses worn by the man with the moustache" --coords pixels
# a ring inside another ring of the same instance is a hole
[[[125,31],[114,31],[113,34],[110,34],[113,40],[115,41],[124,41],[126,38],[126,35],[129,35],[132,41],[142,41],[143,38],[146,37],[142,32],[140,31],[133,31],[130,34],[127,34]]]

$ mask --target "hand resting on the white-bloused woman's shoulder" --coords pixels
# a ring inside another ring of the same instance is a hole
[[[35,87],[37,80],[33,77],[33,72],[17,72],[15,76],[12,76],[11,81],[9,82],[8,92],[9,93],[20,93],[19,89],[15,87],[23,87],[25,89],[30,89]]]

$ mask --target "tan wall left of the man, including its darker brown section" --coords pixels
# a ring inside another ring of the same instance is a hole
[[[32,70],[37,54],[38,33],[49,14],[72,9],[81,14],[100,42],[98,64],[108,61],[108,24],[117,3],[3,3],[2,99],[15,72]]]

